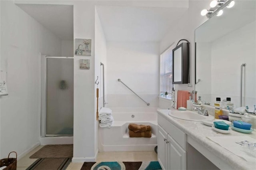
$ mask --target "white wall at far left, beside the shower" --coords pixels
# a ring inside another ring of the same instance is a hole
[[[8,72],[8,96],[1,101],[0,158],[19,156],[39,144],[39,54],[61,55],[60,40],[13,1],[1,4],[1,70]]]

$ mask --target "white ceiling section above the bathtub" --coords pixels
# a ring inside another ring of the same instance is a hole
[[[96,6],[107,41],[159,42],[188,8]]]

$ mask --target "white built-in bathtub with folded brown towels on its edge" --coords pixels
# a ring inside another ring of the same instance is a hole
[[[157,108],[110,108],[114,123],[98,129],[99,151],[152,151],[157,146]],[[130,138],[129,123],[150,125],[151,138]]]

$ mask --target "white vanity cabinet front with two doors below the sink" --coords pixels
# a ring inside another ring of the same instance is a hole
[[[183,136],[183,139],[180,136]],[[180,141],[184,148],[175,139]],[[163,170],[186,169],[186,145],[183,145],[184,143],[186,143],[186,134],[164,118],[159,117],[158,162]]]

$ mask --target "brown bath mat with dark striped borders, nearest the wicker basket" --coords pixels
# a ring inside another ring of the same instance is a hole
[[[71,158],[40,158],[26,170],[66,170]]]

